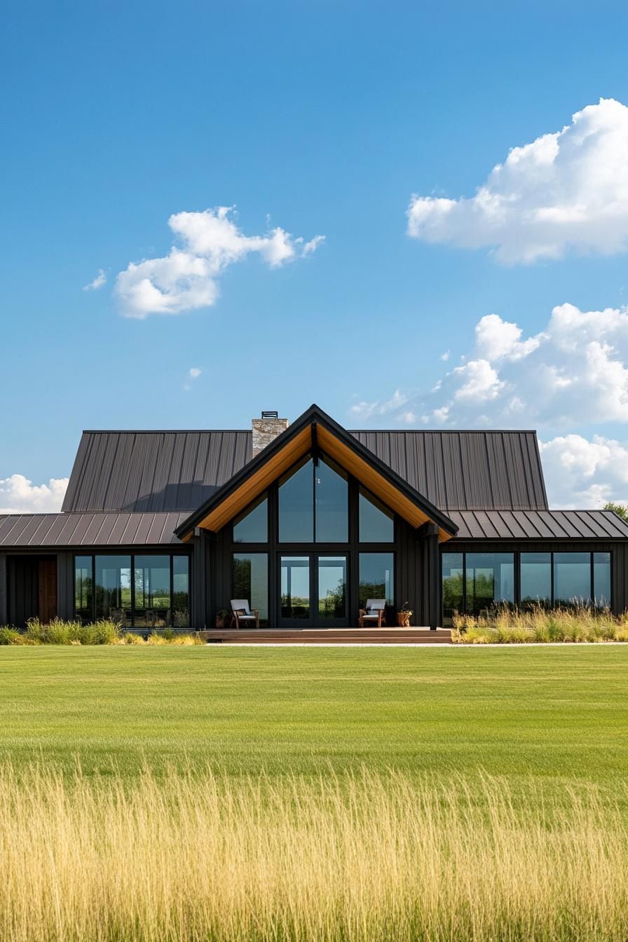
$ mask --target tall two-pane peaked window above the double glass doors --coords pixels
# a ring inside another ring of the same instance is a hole
[[[346,472],[327,458],[306,458],[280,481],[280,543],[346,543]]]

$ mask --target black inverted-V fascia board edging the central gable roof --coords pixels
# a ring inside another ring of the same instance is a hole
[[[282,447],[284,447],[292,438],[298,435],[299,431],[305,429],[308,425],[313,423],[320,423],[326,429],[328,429],[333,435],[339,438],[346,447],[350,448],[355,454],[362,458],[365,462],[371,464],[378,473],[383,477],[387,478],[392,484],[395,485],[397,490],[399,490],[403,495],[409,498],[413,503],[417,505],[423,512],[427,513],[427,516],[434,521],[435,524],[438,524],[439,527],[443,528],[447,533],[451,533],[452,536],[455,536],[458,533],[458,527],[453,520],[450,520],[442,511],[435,507],[431,501],[427,500],[427,497],[419,494],[411,485],[405,481],[403,478],[400,478],[399,475],[393,471],[392,468],[388,467],[387,464],[384,464],[377,455],[374,455],[372,451],[364,447],[357,439],[355,439],[350,432],[346,429],[343,429],[330,415],[323,412],[315,403],[310,406],[309,409],[299,415],[296,422],[293,422],[292,425],[281,432],[275,438],[270,445],[266,445],[263,451],[259,455],[256,455],[248,464],[245,464],[240,471],[233,475],[233,478],[228,480],[225,484],[222,485],[217,492],[212,495],[208,500],[205,501],[201,507],[191,513],[184,522],[175,529],[174,533],[180,540],[186,536],[192,529],[197,527],[201,520],[203,520],[209,512],[214,510],[215,507],[225,497],[233,494],[240,484],[245,481],[250,474],[256,471],[258,468],[263,467],[266,462],[270,461],[276,454],[278,454]]]

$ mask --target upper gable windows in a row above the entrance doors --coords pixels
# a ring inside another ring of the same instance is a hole
[[[280,543],[348,543],[348,479],[326,458],[305,459],[280,481]],[[393,543],[394,515],[359,489],[361,543]],[[233,543],[268,542],[268,500],[260,498],[233,523]]]

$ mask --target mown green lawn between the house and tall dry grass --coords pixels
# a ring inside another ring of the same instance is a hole
[[[0,755],[132,774],[628,769],[628,645],[0,648]]]

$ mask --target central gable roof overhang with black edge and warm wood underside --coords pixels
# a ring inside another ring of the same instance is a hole
[[[197,527],[217,532],[313,450],[339,463],[412,526],[436,524],[440,541],[456,536],[453,520],[315,405],[190,514],[176,528],[176,536],[186,542]]]

